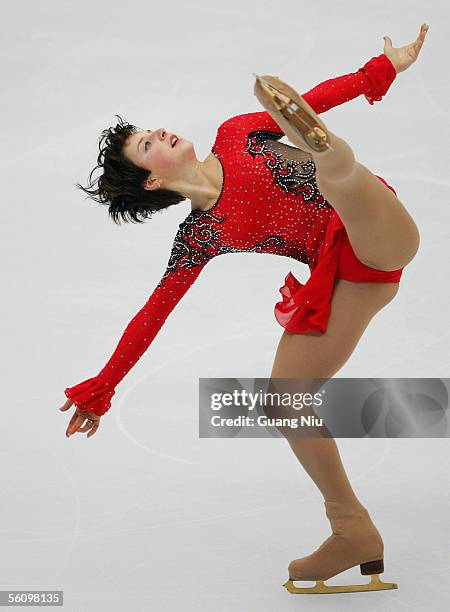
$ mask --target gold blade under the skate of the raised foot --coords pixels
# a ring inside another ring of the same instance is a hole
[[[277,110],[290,122],[313,151],[316,153],[322,153],[327,149],[334,151],[333,147],[328,142],[327,134],[320,126],[316,125],[316,122],[304,108],[266,81],[264,77],[259,76],[255,72],[252,74],[256,77],[261,87],[272,98]]]

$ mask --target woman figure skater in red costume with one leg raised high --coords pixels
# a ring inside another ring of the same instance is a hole
[[[272,378],[329,378],[341,368],[370,320],[396,295],[403,268],[418,250],[419,233],[394,189],[358,163],[316,112],[360,94],[370,104],[381,100],[396,74],[417,59],[427,31],[423,24],[416,41],[401,48],[385,37],[383,54],[302,97],[277,77],[258,78],[255,95],[266,111],[221,124],[203,162],[192,143],[163,129],[137,131],[121,122],[103,132],[97,167],[104,172],[97,189],[84,191],[108,204],[114,221],[143,220],[186,198],[192,209],[179,225],[161,281],[110,360],[97,376],[65,389],[61,410],[76,407],[67,436],[94,435],[117,384],[206,263],[224,253],[272,253],[310,267],[305,285],[289,273],[280,289],[275,316],[284,332]],[[295,127],[270,86],[298,104],[309,127]],[[316,141],[308,136],[313,125]],[[283,136],[296,146],[278,142]],[[316,580],[313,591],[295,592],[333,590],[322,581],[358,564],[378,580],[383,542],[348,481],[335,441],[288,441],[324,497],[333,534],[311,555],[291,562],[286,586],[295,590],[292,580]]]

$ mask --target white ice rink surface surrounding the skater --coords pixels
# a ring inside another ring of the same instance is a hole
[[[253,72],[302,93],[430,25],[381,102],[323,115],[397,191],[421,246],[338,376],[448,377],[450,4],[287,0],[1,2],[0,590],[63,590],[67,612],[450,609],[449,440],[340,439],[396,591],[289,594],[330,535],[282,439],[199,439],[199,377],[269,376],[278,288],[307,266],[216,258],[116,390],[92,438],[63,390],[94,376],[159,281],[190,202],[116,226],[76,189],[121,115],[210,152],[262,110]],[[284,142],[288,142],[284,140]],[[361,582],[353,568],[332,583]],[[39,607],[36,609],[47,609]]]

